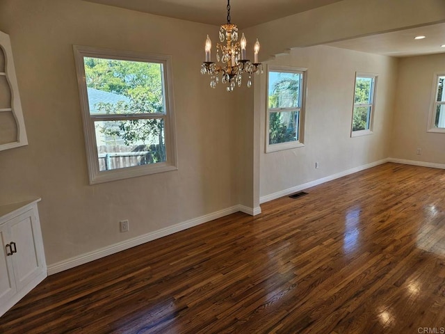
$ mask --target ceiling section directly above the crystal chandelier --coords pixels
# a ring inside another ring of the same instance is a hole
[[[227,0],[86,0],[155,15],[219,26],[227,22]],[[247,28],[341,0],[232,0],[231,22]]]

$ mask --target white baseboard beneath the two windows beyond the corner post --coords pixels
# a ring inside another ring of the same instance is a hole
[[[357,173],[357,172],[359,172],[361,170],[365,170],[365,169],[368,169],[368,168],[371,168],[371,167],[375,167],[375,166],[378,166],[378,165],[381,165],[381,164],[385,164],[387,162],[389,162],[389,159],[382,159],[382,160],[379,160],[379,161],[371,162],[371,164],[366,164],[366,165],[358,166],[358,167],[355,167],[355,168],[350,168],[348,170],[343,170],[343,172],[340,172],[340,173],[337,173],[337,174],[333,174],[333,175],[329,175],[329,176],[326,176],[326,177],[322,177],[321,179],[318,179],[318,180],[307,182],[305,184],[300,184],[298,186],[293,186],[291,188],[284,189],[282,191],[277,191],[276,193],[271,193],[270,195],[263,196],[263,197],[259,198],[259,202],[261,204],[261,203],[269,202],[270,200],[276,200],[277,198],[290,195],[291,193],[296,193],[298,191],[302,191],[304,189],[311,188],[312,186],[318,186],[318,184],[322,184],[322,183],[325,183],[325,182],[328,182],[328,181],[332,181],[332,180],[338,179],[339,177],[343,177],[343,176],[346,176],[346,175]]]

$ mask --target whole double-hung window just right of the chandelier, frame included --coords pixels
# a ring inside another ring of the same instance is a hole
[[[268,67],[266,152],[303,146],[305,71]]]

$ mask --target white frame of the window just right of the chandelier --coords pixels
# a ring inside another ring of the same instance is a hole
[[[300,101],[299,107],[292,108],[269,108],[269,72],[284,72],[284,73],[297,73],[301,75],[300,81]],[[280,66],[280,65],[268,65],[267,66],[267,77],[266,77],[266,145],[265,152],[276,152],[281,150],[289,150],[291,148],[301,148],[305,146],[305,102],[306,102],[306,82],[307,82],[307,67],[291,67],[291,66]],[[298,141],[289,141],[287,143],[269,144],[269,121],[270,113],[280,112],[280,111],[296,111],[299,113],[298,122]]]

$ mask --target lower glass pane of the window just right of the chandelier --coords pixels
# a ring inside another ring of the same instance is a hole
[[[269,145],[298,141],[300,111],[279,111],[269,114]]]

